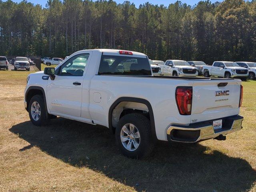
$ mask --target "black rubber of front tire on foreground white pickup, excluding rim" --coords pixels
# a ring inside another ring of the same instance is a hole
[[[32,107],[32,103],[33,102],[38,102],[40,109],[41,109],[41,114],[38,120],[34,120],[32,118],[32,114],[31,114],[31,107]],[[34,95],[29,102],[29,106],[28,106],[28,114],[29,114],[29,118],[31,120],[31,122],[35,125],[35,126],[42,126],[42,125],[46,125],[49,121],[48,118],[48,113],[46,111],[45,105],[44,105],[44,98],[42,95]]]

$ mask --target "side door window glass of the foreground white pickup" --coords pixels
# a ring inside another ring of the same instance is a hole
[[[88,53],[73,56],[60,67],[58,75],[83,76],[88,58]]]

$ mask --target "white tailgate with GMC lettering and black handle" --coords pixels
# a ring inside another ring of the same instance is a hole
[[[241,80],[194,81],[191,123],[237,115],[240,84]]]

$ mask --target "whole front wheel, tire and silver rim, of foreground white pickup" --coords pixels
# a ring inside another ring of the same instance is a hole
[[[48,122],[44,98],[42,95],[34,95],[30,99],[28,107],[29,118],[34,125],[41,126]]]

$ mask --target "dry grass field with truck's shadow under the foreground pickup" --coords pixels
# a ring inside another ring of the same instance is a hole
[[[256,192],[256,81],[242,82],[243,129],[226,141],[159,142],[133,160],[102,126],[64,118],[34,126],[23,104],[28,74],[0,71],[1,192]]]

